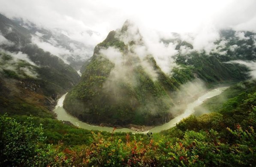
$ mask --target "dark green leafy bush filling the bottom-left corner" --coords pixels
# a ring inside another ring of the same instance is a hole
[[[6,115],[0,116],[0,165],[30,166],[43,141],[42,125],[34,127],[33,118],[23,124]]]

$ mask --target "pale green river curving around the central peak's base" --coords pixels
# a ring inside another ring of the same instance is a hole
[[[169,128],[174,127],[176,125],[176,123],[180,122],[182,119],[187,118],[188,116],[193,114],[195,112],[194,108],[201,105],[203,103],[203,101],[205,101],[208,98],[219,95],[228,87],[229,86],[219,87],[219,88],[212,89],[211,91],[206,92],[204,95],[200,96],[196,101],[193,101],[192,103],[188,104],[184,113],[182,113],[179,116],[176,116],[174,119],[170,120],[169,122],[167,122],[163,125],[156,126],[152,129],[150,129],[149,131],[138,131],[137,132],[137,131],[133,131],[129,128],[120,128],[120,129],[116,129],[115,131],[116,132],[132,132],[135,134],[135,133],[148,133],[148,132],[157,133],[157,132],[160,132],[163,130],[167,130]],[[66,94],[58,99],[57,105],[54,109],[54,112],[57,114],[57,119],[63,120],[63,121],[69,121],[73,125],[78,126],[79,128],[87,129],[87,130],[98,130],[98,131],[108,131],[108,132],[113,131],[112,127],[101,127],[101,126],[96,126],[96,125],[89,125],[85,122],[81,122],[76,117],[71,116],[69,113],[67,113],[66,110],[63,109],[63,101],[66,97]]]

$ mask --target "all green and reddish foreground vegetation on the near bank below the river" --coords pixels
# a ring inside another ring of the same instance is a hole
[[[3,115],[0,165],[253,166],[256,86],[243,85],[247,92],[240,85],[218,113],[190,116],[160,134],[90,132],[50,118]]]

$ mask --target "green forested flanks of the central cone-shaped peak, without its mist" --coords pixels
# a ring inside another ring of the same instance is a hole
[[[176,87],[161,72],[153,57],[148,57],[147,61],[157,69],[159,81],[154,82],[142,66],[133,66],[139,61],[138,58],[125,55],[127,60],[124,66],[133,68],[136,86],[124,81],[114,83],[116,89],[121,91],[119,94],[122,96],[118,99],[111,95],[111,90],[102,88],[114,69],[114,64],[99,53],[100,48],[108,47],[118,48],[122,53],[128,52],[128,46],[115,37],[115,31],[111,31],[95,47],[92,60],[85,68],[80,83],[66,96],[65,109],[85,122],[96,124],[157,125],[169,120],[171,115],[168,110],[172,104],[168,104],[169,95],[166,90]]]

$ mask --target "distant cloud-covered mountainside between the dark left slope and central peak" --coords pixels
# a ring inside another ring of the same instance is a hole
[[[77,71],[80,70],[84,61],[93,54],[93,46],[70,39],[64,30],[48,30],[30,21],[24,21],[22,18],[14,18],[12,21],[26,28],[32,37],[31,41],[39,48],[58,56]]]

